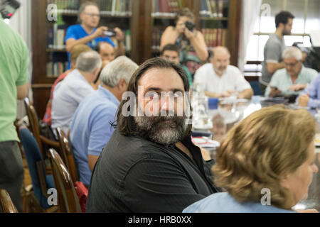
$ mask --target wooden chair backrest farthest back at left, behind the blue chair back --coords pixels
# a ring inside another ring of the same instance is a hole
[[[39,123],[38,123],[39,121],[38,121],[36,109],[34,108],[33,104],[31,104],[31,101],[29,101],[28,98],[24,99],[24,105],[26,106],[26,112],[27,112],[27,115],[29,118],[31,132],[33,133],[34,137],[36,138],[36,142],[38,143],[42,157],[45,158],[46,154],[43,152],[43,146],[42,146],[42,142],[40,139],[40,127],[39,127]]]

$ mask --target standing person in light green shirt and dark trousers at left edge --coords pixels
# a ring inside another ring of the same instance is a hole
[[[0,188],[22,211],[23,162],[14,126],[17,99],[28,94],[28,48],[0,15]]]

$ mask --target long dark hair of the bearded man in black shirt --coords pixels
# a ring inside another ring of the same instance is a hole
[[[133,92],[137,97],[138,96],[139,79],[148,70],[151,70],[154,68],[175,70],[183,81],[184,91],[189,92],[189,82],[188,82],[188,77],[186,77],[186,72],[184,72],[184,70],[180,66],[174,64],[173,62],[169,62],[167,60],[164,60],[161,57],[154,57],[149,60],[146,60],[136,70],[136,72],[134,72],[134,74],[132,75],[132,77],[129,81],[129,84],[128,84],[127,91]],[[186,96],[186,99],[188,99],[188,96]],[[117,121],[115,121],[112,124],[112,126],[117,127],[117,129],[119,130],[119,133],[122,135],[125,135],[125,136],[136,135],[137,134],[137,126],[134,121],[134,116],[123,116],[123,114],[122,114],[122,108],[123,108],[124,104],[127,103],[127,101],[129,101],[129,100],[122,100],[121,103],[119,104],[119,108],[117,110]],[[190,101],[189,101],[189,104],[190,104]],[[129,108],[126,111],[132,111]],[[191,106],[190,106],[190,109],[191,109]],[[188,129],[186,130],[185,135],[183,135],[184,137],[191,135],[191,128],[192,128],[192,125],[190,124]]]

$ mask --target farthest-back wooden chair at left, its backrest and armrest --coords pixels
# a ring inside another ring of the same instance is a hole
[[[43,145],[48,145],[50,148],[59,148],[59,143],[58,141],[50,140],[45,136],[41,135],[40,123],[38,121],[36,109],[34,108],[33,104],[31,104],[28,98],[24,99],[24,105],[26,106],[26,112],[28,114],[31,132],[33,133],[33,136],[36,138],[38,146],[41,150],[43,160],[46,160],[46,149],[43,149]]]

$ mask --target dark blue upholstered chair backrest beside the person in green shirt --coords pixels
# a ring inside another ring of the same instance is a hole
[[[34,194],[36,195],[39,204],[44,209],[48,209],[50,205],[48,205],[48,199],[46,196],[48,191],[45,177],[46,170],[38,143],[28,128],[21,127],[19,132],[21,144],[28,163],[28,170],[31,175]]]

